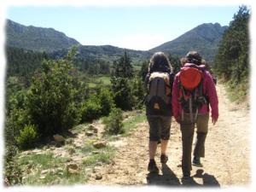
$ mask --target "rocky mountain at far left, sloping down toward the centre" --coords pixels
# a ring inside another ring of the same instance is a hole
[[[6,45],[9,47],[35,51],[50,52],[79,44],[75,39],[68,38],[63,32],[53,28],[23,26],[12,20],[6,22],[6,37]]]

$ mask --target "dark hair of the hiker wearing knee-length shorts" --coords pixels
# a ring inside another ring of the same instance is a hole
[[[163,72],[171,73],[172,65],[168,57],[163,52],[156,52],[151,57],[148,65],[148,73]]]

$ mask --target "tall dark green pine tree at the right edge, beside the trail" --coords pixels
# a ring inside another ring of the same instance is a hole
[[[219,44],[214,71],[226,80],[239,82],[248,76],[249,18],[250,11],[241,6]]]

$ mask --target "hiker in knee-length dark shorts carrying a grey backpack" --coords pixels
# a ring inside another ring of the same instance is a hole
[[[145,86],[148,96],[145,99],[146,115],[149,125],[149,163],[148,172],[159,172],[154,156],[160,143],[160,162],[166,163],[166,148],[170,138],[172,119],[172,83],[174,73],[167,56],[155,53],[149,62]]]

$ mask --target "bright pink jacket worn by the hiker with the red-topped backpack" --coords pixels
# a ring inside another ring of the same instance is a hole
[[[184,65],[186,67],[186,64]],[[178,117],[181,116],[182,109],[181,105],[178,101],[179,99],[179,74],[177,73],[174,79],[174,83],[172,85],[172,112],[175,119],[178,119]],[[205,71],[203,73],[203,93],[208,96],[210,106],[211,106],[211,113],[212,113],[212,119],[218,119],[218,96],[217,91],[215,88],[215,84],[212,81],[212,75]],[[198,113],[205,114],[209,113],[209,105],[204,104],[200,109]]]

